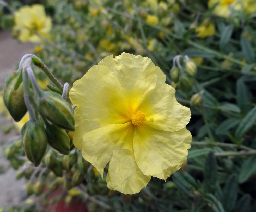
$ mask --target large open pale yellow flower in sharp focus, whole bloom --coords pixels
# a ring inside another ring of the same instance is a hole
[[[108,56],[75,81],[73,143],[108,188],[138,193],[151,176],[166,179],[186,161],[190,109],[151,59],[122,53]]]

